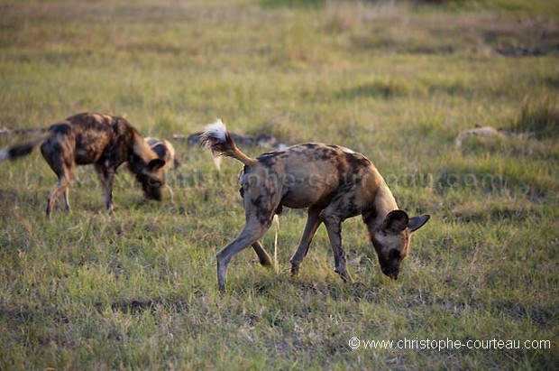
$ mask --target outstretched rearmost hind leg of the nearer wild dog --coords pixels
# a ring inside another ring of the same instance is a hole
[[[225,280],[227,277],[227,265],[231,258],[248,246],[253,246],[270,229],[270,221],[261,223],[258,218],[250,218],[244,225],[241,234],[229,245],[225,246],[216,256],[217,260],[217,287],[220,292],[225,291]],[[258,252],[257,252],[258,254]]]

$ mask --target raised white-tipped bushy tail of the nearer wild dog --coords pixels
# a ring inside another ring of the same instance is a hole
[[[234,144],[231,134],[227,131],[221,119],[214,124],[206,126],[206,130],[200,135],[199,144],[212,150],[215,166],[219,169],[220,156],[233,157],[247,166],[253,166],[257,161],[242,153]]]

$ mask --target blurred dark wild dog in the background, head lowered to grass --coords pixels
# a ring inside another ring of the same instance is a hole
[[[116,169],[128,162],[129,169],[142,184],[147,199],[161,199],[161,185],[165,183],[160,160],[136,129],[123,117],[94,113],[70,116],[51,125],[44,134],[25,144],[0,151],[0,161],[13,160],[32,152],[41,144],[42,157],[59,178],[47,201],[47,218],[50,218],[56,199],[63,195],[64,206],[69,211],[69,186],[76,165],[93,164],[99,174],[105,206],[114,209],[113,183]]]

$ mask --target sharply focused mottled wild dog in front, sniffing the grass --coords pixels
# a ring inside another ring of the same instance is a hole
[[[225,290],[227,265],[243,248],[252,246],[262,265],[271,264],[259,240],[283,206],[308,209],[307,226],[290,260],[291,273],[298,273],[316,229],[324,223],[334,252],[334,271],[348,282],[353,280],[345,268],[342,246],[346,218],[362,215],[380,269],[392,279],[398,278],[402,259],[409,253],[411,233],[429,219],[428,215],[409,218],[399,210],[373,164],[361,153],[338,145],[297,144],[251,158],[236,147],[221,120],[206,126],[200,144],[215,156],[233,157],[244,164],[240,182],[246,224],[216,256],[220,291]]]

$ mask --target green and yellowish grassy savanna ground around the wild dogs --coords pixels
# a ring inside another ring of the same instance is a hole
[[[174,144],[175,202],[122,173],[115,215],[90,167],[73,210],[44,218],[55,177],[35,151],[0,164],[0,369],[552,369],[559,363],[559,5],[554,1],[0,1],[0,126],[82,111],[142,134],[237,133],[343,144],[410,214],[397,282],[360,218],[349,269],[324,227],[298,276],[302,210],[277,267],[215,253],[243,227],[238,162]],[[493,125],[529,138],[455,136]],[[1,146],[24,137],[3,136]],[[243,147],[256,155],[263,150]],[[274,233],[264,246],[274,253]],[[549,340],[547,349],[365,349],[363,340]]]

